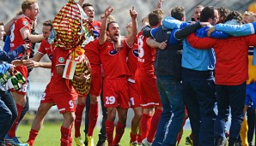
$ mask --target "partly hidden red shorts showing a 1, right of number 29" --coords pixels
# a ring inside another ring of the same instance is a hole
[[[141,107],[141,99],[137,91],[137,84],[131,83],[128,79],[129,103],[131,108]]]

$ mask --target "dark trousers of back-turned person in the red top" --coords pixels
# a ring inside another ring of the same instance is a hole
[[[241,85],[216,85],[218,114],[214,126],[214,136],[224,137],[225,125],[229,120],[229,106],[231,108],[231,126],[229,137],[237,139],[243,121],[245,105],[246,83]]]

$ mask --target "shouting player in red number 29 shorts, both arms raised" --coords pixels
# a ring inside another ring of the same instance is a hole
[[[101,63],[104,70],[103,99],[107,108],[107,142],[109,146],[118,145],[125,132],[127,110],[129,108],[129,95],[127,75],[130,71],[126,64],[127,50],[134,44],[137,34],[137,12],[130,10],[132,31],[123,42],[122,47],[116,50],[115,44],[119,42],[121,36],[119,25],[112,21],[107,24],[107,17],[112,13],[113,8],[105,10],[105,18],[101,25],[99,38]],[[110,38],[107,40],[107,36]],[[116,134],[113,139],[114,120],[116,113],[119,114],[119,121],[116,127]]]

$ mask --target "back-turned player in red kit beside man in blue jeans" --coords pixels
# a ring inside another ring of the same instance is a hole
[[[150,27],[161,25],[163,11],[155,9],[149,15]],[[143,117],[141,131],[143,143],[150,145],[155,137],[155,131],[162,114],[160,95],[156,87],[153,62],[155,61],[155,48],[149,47],[147,38],[143,32],[137,34],[138,64],[135,73],[135,81],[142,99]]]

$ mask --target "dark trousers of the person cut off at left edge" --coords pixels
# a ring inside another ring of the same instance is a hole
[[[17,118],[15,100],[9,91],[0,91],[0,143]]]

